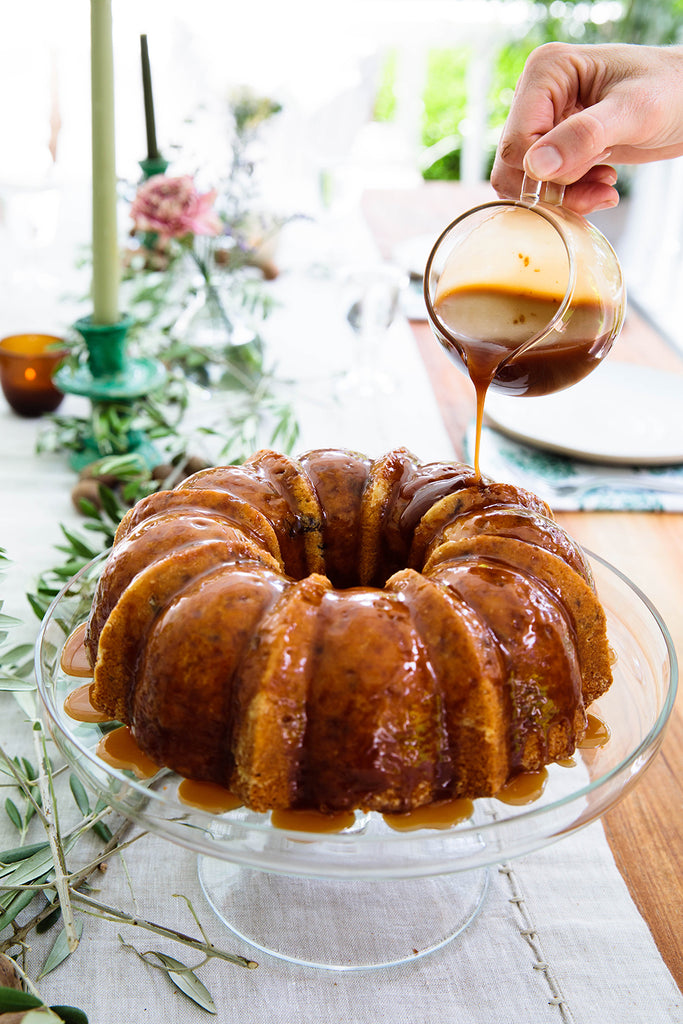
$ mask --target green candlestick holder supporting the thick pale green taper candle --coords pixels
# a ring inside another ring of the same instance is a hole
[[[61,367],[54,375],[56,386],[68,394],[78,394],[94,404],[132,406],[163,384],[166,370],[157,359],[135,358],[127,353],[127,334],[133,321],[122,316],[117,324],[93,324],[84,316],[74,325],[85,341],[88,358],[77,367]],[[161,461],[157,450],[140,430],[129,430],[121,439],[122,451],[135,454],[153,468]],[[94,434],[84,439],[83,449],[71,459],[80,470],[111,452],[102,452]]]

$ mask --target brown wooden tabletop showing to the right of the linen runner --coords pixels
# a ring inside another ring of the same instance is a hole
[[[364,213],[382,255],[409,239],[435,240],[458,214],[495,198],[488,185],[430,182],[415,189],[369,191]],[[604,222],[603,222],[604,223]],[[472,385],[450,362],[426,323],[413,330],[449,435],[462,455],[474,412]],[[683,375],[683,356],[633,308],[610,358]],[[683,376],[681,379],[683,394]],[[564,512],[558,520],[587,548],[616,565],[659,611],[683,664],[683,514]],[[616,864],[663,958],[683,988],[683,693],[679,691],[659,755],[639,784],[603,819]]]

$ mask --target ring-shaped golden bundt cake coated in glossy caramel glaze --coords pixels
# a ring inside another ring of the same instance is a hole
[[[96,708],[256,811],[494,795],[570,756],[611,682],[548,506],[402,449],[261,451],[143,499],[86,647]]]

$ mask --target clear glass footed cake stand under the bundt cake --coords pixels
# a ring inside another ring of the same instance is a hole
[[[66,761],[116,811],[199,855],[209,903],[238,936],[271,955],[337,971],[409,963],[443,946],[480,911],[490,865],[538,850],[604,814],[637,781],[661,743],[674,703],[677,663],[669,632],[649,600],[617,569],[590,556],[607,614],[614,683],[591,711],[607,724],[606,745],[578,751],[574,765],[551,765],[531,805],[474,802],[466,822],[396,831],[375,813],[322,835],[274,827],[246,808],[195,810],[164,770],[140,781],[95,754],[99,725],[63,710],[83,679],[60,669],[66,638],[88,615],[104,556],[55,598],[36,647],[44,720]],[[419,887],[419,920],[405,906]],[[316,906],[319,912],[310,913]],[[308,910],[308,912],[307,912]]]

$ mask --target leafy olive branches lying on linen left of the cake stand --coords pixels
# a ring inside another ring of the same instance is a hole
[[[111,468],[111,467],[108,467]],[[124,469],[124,467],[120,467]],[[134,483],[133,479],[128,480]],[[138,486],[146,486],[146,482],[138,480]],[[121,506],[119,498],[109,488],[102,487],[105,496],[101,508],[92,507],[88,510],[90,524],[99,539],[109,539],[120,518]],[[90,546],[77,535],[65,530],[66,544],[61,546],[67,556],[66,562],[52,572],[41,578],[38,591],[31,595],[31,604],[40,617],[45,602],[49,603],[55,587],[59,586],[63,575],[73,574],[74,568],[80,563],[85,564],[96,553],[96,545]],[[0,549],[0,571],[2,562],[6,561],[6,553]],[[17,621],[2,612],[0,601],[0,688],[13,692],[14,695],[32,695],[35,684],[31,679],[32,645],[20,644],[3,650],[10,635],[11,628]],[[26,707],[26,706],[25,706]],[[27,757],[12,757],[0,745],[0,788],[8,790],[11,796],[6,796],[4,809],[7,818],[17,831],[17,845],[0,851],[0,966],[2,957],[11,955],[12,963],[22,973],[24,985],[28,991],[16,992],[11,987],[0,985],[0,1014],[14,1010],[26,1010],[27,1014],[36,1016],[39,1020],[63,1021],[67,1024],[87,1024],[87,1018],[76,1008],[45,1007],[40,998],[34,982],[20,969],[20,962],[28,949],[31,935],[41,934],[61,922],[59,930],[37,981],[53,971],[78,948],[83,930],[82,914],[96,916],[103,921],[114,922],[152,932],[166,939],[172,939],[179,945],[186,946],[203,954],[200,964],[187,967],[180,961],[158,950],[147,950],[137,953],[150,967],[166,972],[169,980],[187,997],[209,1013],[215,1013],[213,999],[208,989],[196,975],[196,971],[212,959],[222,959],[230,964],[253,969],[257,965],[227,950],[219,949],[208,939],[190,901],[180,896],[187,903],[190,914],[198,925],[200,937],[195,937],[168,928],[165,925],[147,921],[139,915],[131,914],[123,909],[113,907],[97,900],[89,885],[97,872],[101,872],[109,860],[115,855],[123,856],[124,852],[145,836],[145,831],[128,838],[132,828],[128,820],[123,820],[110,826],[108,819],[113,820],[114,811],[102,801],[97,801],[95,807],[90,806],[90,800],[85,786],[76,775],[69,777],[71,795],[81,813],[80,820],[68,831],[60,825],[59,800],[57,782],[68,772],[67,766],[55,768],[48,756],[47,737],[41,723],[30,718],[33,732],[35,764]],[[39,823],[45,839],[40,842],[28,843],[30,830]],[[79,843],[89,834],[94,834],[102,843],[101,849],[88,863],[77,870],[70,870],[70,857],[75,855]],[[25,910],[32,910],[31,916],[17,924],[17,919]],[[77,913],[78,911],[78,913]],[[122,940],[123,942],[123,940]],[[124,943],[127,948],[133,948]]]

